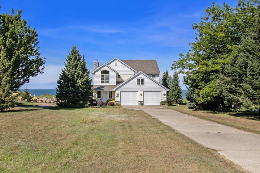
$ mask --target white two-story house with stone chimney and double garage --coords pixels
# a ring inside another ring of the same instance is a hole
[[[166,100],[166,87],[159,83],[156,60],[119,60],[117,57],[99,66],[94,62],[95,99],[115,99],[121,105],[160,105]]]

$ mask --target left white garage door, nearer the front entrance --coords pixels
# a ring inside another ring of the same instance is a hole
[[[121,105],[138,105],[138,91],[121,91]]]

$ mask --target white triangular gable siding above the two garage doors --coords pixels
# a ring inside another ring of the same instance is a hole
[[[137,78],[144,78],[144,85],[137,85]],[[153,79],[147,78],[143,74],[139,74],[138,76],[132,78],[131,81],[118,88],[118,90],[165,90],[152,80]]]

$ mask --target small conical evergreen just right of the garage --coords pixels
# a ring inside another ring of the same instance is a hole
[[[177,71],[174,72],[172,77],[168,100],[170,100],[170,102],[182,103],[182,90]]]

